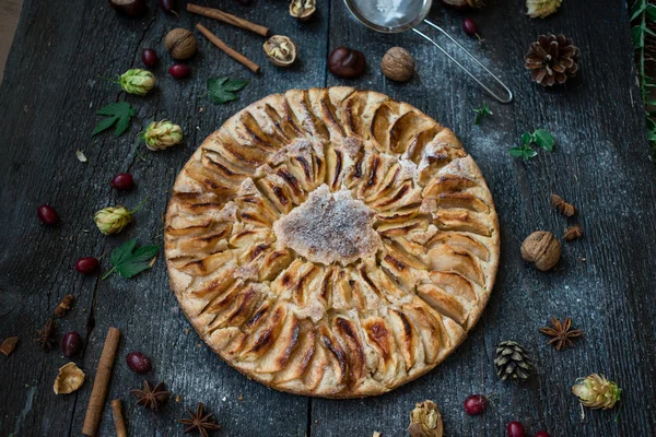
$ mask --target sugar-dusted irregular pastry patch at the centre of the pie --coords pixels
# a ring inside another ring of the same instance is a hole
[[[330,192],[327,185],[273,224],[278,240],[312,262],[347,265],[375,253],[380,238],[373,212],[349,191]]]

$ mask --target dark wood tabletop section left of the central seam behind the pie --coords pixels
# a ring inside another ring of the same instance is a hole
[[[15,334],[21,339],[11,357],[0,356],[0,434],[79,435],[103,342],[108,327],[114,326],[122,331],[124,340],[108,397],[124,400],[131,435],[181,434],[176,420],[185,408],[195,408],[199,401],[215,413],[224,435],[305,435],[308,400],[250,382],[211,353],[192,329],[189,332],[161,260],[152,271],[133,280],[83,277],[72,264],[81,256],[106,253],[103,267],[107,268],[110,250],[133,237],[143,244],[161,244],[169,189],[204,137],[241,107],[267,94],[324,83],[327,21],[297,25],[286,13],[285,2],[260,2],[257,8],[233,1],[218,4],[304,42],[302,61],[291,70],[280,70],[266,59],[261,37],[208,19],[181,13],[178,20],[151,9],[142,20],[130,20],[116,15],[106,2],[73,3],[67,8],[80,13],[68,15],[55,3],[26,1],[0,90],[7,139],[2,143],[0,199],[11,205],[0,217],[2,227],[11,229],[0,237],[4,248],[0,261],[0,338]],[[192,28],[198,22],[229,45],[242,47],[262,66],[262,73],[254,75],[198,35],[200,49],[189,62],[191,78],[173,80],[166,73],[172,62],[164,52],[163,36],[173,27]],[[157,90],[148,97],[127,96],[96,78],[141,67],[140,54],[147,47],[156,48],[162,59],[154,69]],[[207,79],[221,75],[251,80],[239,102],[214,106],[200,97]],[[103,133],[91,139],[98,119],[94,111],[124,99],[138,109],[129,134],[115,139]],[[149,154],[144,163],[132,151],[133,139],[148,122],[162,118],[183,126],[185,144]],[[78,149],[89,157],[86,164],[77,161]],[[137,188],[117,193],[108,182],[126,169],[134,175]],[[97,232],[92,221],[97,209],[115,203],[133,206],[145,197],[149,200],[129,229],[117,237]],[[59,226],[48,228],[37,221],[35,209],[43,202],[57,208],[62,221]],[[84,334],[87,320],[93,321],[84,354],[75,359],[89,381],[74,394],[56,397],[52,381],[67,359],[57,351],[38,351],[32,339],[58,300],[71,292],[78,303],[58,324],[61,332]],[[128,394],[142,379],[126,366],[125,355],[132,350],[152,357],[155,369],[148,379],[165,380],[174,392],[157,417],[136,409]],[[180,395],[180,402],[175,395]],[[108,406],[99,430],[101,435],[114,433]]]

